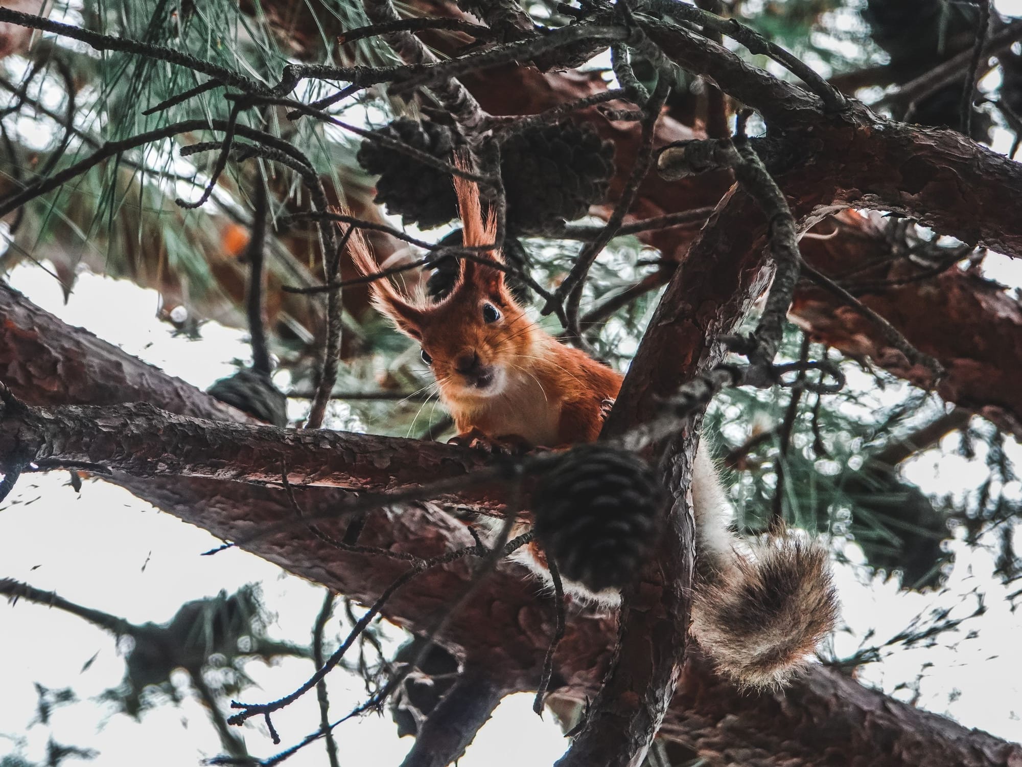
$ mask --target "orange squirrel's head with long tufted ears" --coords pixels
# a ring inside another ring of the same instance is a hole
[[[496,221],[482,217],[478,187],[455,178],[466,246],[494,241]],[[355,232],[352,258],[364,275],[379,271],[365,240]],[[503,263],[497,251],[479,251],[483,260]],[[371,283],[373,303],[399,330],[422,347],[422,360],[433,372],[448,401],[497,397],[511,378],[524,374],[515,360],[528,356],[542,332],[526,317],[504,282],[504,272],[469,258],[459,258],[454,288],[431,303],[401,295],[385,278]],[[466,402],[469,404],[469,402]]]

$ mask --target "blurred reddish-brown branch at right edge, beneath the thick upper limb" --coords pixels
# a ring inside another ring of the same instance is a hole
[[[889,249],[869,219],[842,216],[844,236],[803,239],[806,261],[825,274],[849,277],[858,299],[894,324],[922,352],[937,357],[946,375],[936,392],[1022,436],[1022,304],[995,282],[951,267],[919,279],[924,269],[907,260],[863,270]],[[828,227],[821,227],[826,229]],[[887,282],[888,284],[882,284]],[[872,284],[871,284],[872,283]],[[875,286],[874,286],[875,285]],[[924,371],[888,347],[854,309],[821,288],[803,284],[792,315],[816,339],[850,356],[869,357],[894,375],[926,386]]]

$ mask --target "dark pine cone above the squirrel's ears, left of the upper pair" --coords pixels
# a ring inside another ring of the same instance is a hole
[[[461,137],[447,126],[408,118],[399,118],[375,133],[448,162],[461,145]],[[457,217],[458,200],[449,175],[372,141],[363,142],[358,160],[380,177],[376,201],[385,204],[389,213],[400,214],[405,224],[429,229]]]

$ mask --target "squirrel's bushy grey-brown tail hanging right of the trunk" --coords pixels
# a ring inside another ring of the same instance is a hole
[[[826,549],[775,536],[738,550],[727,501],[705,451],[696,457],[698,576],[692,633],[716,670],[742,687],[784,685],[837,620]]]

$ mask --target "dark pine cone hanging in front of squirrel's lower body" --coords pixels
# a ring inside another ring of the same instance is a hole
[[[536,535],[561,575],[593,592],[623,588],[649,556],[663,503],[634,453],[582,445],[544,475],[533,494]]]

